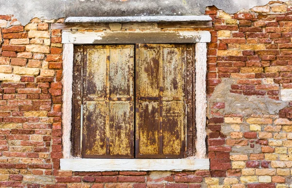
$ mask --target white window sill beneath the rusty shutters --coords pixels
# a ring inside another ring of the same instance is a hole
[[[209,167],[209,159],[60,159],[62,171],[195,171]]]

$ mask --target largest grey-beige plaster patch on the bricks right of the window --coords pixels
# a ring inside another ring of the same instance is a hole
[[[241,114],[249,116],[251,114],[277,115],[281,109],[289,106],[287,101],[276,101],[269,97],[246,96],[230,93],[231,85],[236,84],[236,79],[223,78],[222,82],[216,86],[212,96],[208,98],[208,114],[210,117],[210,106],[213,103],[225,103],[225,108],[220,109],[222,114]],[[214,111],[214,109],[212,109]]]

